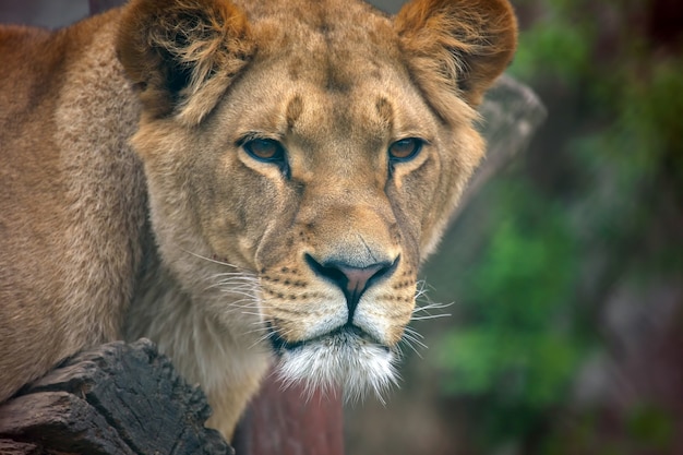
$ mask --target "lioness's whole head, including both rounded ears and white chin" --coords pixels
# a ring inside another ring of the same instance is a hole
[[[235,336],[269,344],[286,381],[381,392],[395,381],[419,264],[482,156],[474,106],[514,48],[510,9],[468,4],[496,12],[504,43],[487,35],[503,49],[491,70],[493,47],[481,69],[465,50],[439,61],[444,47],[455,49],[441,35],[456,39],[458,21],[472,20],[448,2],[417,1],[396,20],[346,1],[197,1],[192,14],[187,3],[161,9],[169,23],[192,16],[192,29],[211,17],[192,49],[190,27],[182,39],[163,24],[142,27],[152,36],[144,43],[156,39],[166,53],[139,53],[140,26],[119,39],[141,87],[133,143],[164,261]],[[429,8],[448,23],[427,25]],[[491,32],[481,16],[479,29]],[[457,70],[464,64],[471,74]],[[228,274],[253,279],[248,289],[236,278],[220,282],[223,294],[207,290],[207,277]],[[240,304],[249,309],[233,311]]]

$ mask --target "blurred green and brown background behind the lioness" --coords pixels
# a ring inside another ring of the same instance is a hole
[[[346,452],[683,454],[683,5],[513,3],[508,74],[548,118],[426,264],[420,304],[444,307],[388,403],[347,407]],[[0,1],[0,22],[85,15]]]

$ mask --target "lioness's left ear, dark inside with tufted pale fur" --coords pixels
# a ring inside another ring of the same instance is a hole
[[[244,13],[229,0],[134,0],[117,55],[145,113],[196,124],[254,52]]]

